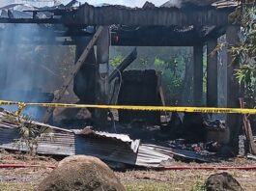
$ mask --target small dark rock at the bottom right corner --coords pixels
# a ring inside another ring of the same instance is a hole
[[[215,174],[206,180],[206,190],[243,191],[240,183],[228,173]]]

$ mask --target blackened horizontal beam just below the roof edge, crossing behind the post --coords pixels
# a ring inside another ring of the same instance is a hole
[[[131,28],[131,30],[126,30]],[[204,43],[210,37],[218,37],[220,33],[216,27],[117,27],[111,30],[111,45],[120,46],[194,46]],[[0,30],[0,34],[6,29]],[[43,38],[45,34],[47,38]],[[40,27],[39,31],[26,36],[22,35],[17,43],[36,44],[73,44],[73,37],[92,37],[92,32],[70,28],[69,30],[58,27]]]

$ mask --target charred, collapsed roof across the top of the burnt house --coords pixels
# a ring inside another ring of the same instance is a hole
[[[94,30],[88,30],[88,26],[110,25],[113,45],[192,46],[223,35],[234,6],[237,6],[234,1],[227,0],[171,0],[161,7],[146,2],[143,8],[105,4],[96,7],[87,3],[77,7],[77,1],[50,8],[14,4],[0,8],[0,23],[52,24],[47,25],[47,30],[56,37],[61,32],[61,36],[69,38],[90,36]],[[57,24],[68,28],[60,31],[58,27],[55,33]],[[67,38],[64,41],[64,44],[72,43]]]

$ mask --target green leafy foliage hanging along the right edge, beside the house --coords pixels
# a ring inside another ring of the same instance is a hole
[[[245,100],[250,107],[255,106],[256,100],[256,5],[254,1],[239,1],[242,3],[233,14],[233,20],[242,25],[242,42],[232,46],[235,59],[233,64],[240,64],[236,77],[245,86]]]

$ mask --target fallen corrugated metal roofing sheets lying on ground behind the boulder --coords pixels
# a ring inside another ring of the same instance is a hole
[[[18,142],[18,125],[6,117],[13,115],[0,112],[0,148],[28,151],[24,142]],[[13,115],[14,117],[14,115]],[[141,144],[140,140],[131,140],[128,135],[93,131],[92,129],[67,130],[44,123],[39,128],[51,131],[38,139],[37,153],[49,155],[86,154],[102,160],[120,162],[144,167],[161,167],[162,163],[172,161],[174,155],[182,155],[202,162],[207,159],[198,154],[156,145]]]

